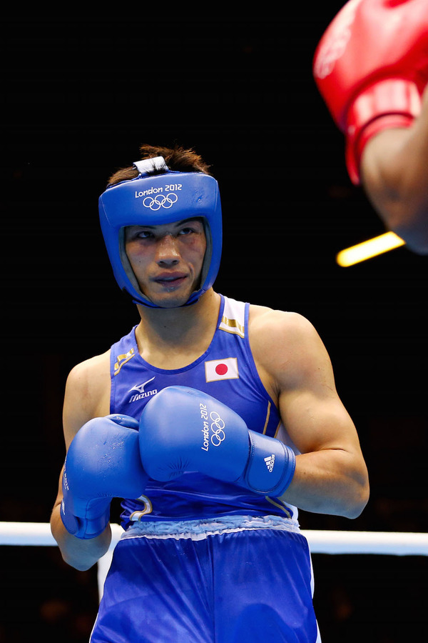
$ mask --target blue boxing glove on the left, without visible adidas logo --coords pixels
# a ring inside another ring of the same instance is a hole
[[[138,499],[148,475],[138,447],[138,422],[127,415],[89,420],[77,432],[64,463],[61,519],[81,539],[99,536],[113,498]]]

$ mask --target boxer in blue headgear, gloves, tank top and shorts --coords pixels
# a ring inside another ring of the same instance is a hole
[[[141,154],[99,199],[140,321],[68,377],[51,517],[63,558],[88,569],[123,498],[91,642],[318,642],[297,507],[362,512],[355,426],[307,319],[214,291],[222,222],[208,166],[179,147]]]

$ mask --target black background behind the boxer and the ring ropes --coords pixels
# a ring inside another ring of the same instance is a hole
[[[427,531],[427,259],[404,247],[335,263],[384,231],[347,176],[342,134],[312,79],[340,6],[287,4],[281,17],[272,6],[267,16],[259,6],[188,16],[126,6],[99,18],[67,7],[61,18],[4,20],[1,521],[49,521],[68,371],[138,321],[113,279],[98,195],[140,144],[178,141],[220,181],[216,290],[307,316],[360,434],[365,512],[300,512],[301,527]],[[75,572],[54,547],[0,556],[1,643],[87,641],[96,569]],[[426,557],[313,558],[324,643],[424,639]]]

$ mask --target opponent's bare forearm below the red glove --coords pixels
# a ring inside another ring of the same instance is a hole
[[[386,129],[362,153],[361,181],[388,229],[428,254],[428,91],[411,127]]]

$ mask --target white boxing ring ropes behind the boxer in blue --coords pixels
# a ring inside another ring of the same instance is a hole
[[[111,564],[113,549],[123,529],[111,525],[111,545],[98,561],[98,596]],[[389,556],[428,556],[428,534],[414,532],[342,532],[302,529],[312,554],[385,554]],[[0,522],[0,545],[56,547],[49,523]]]

